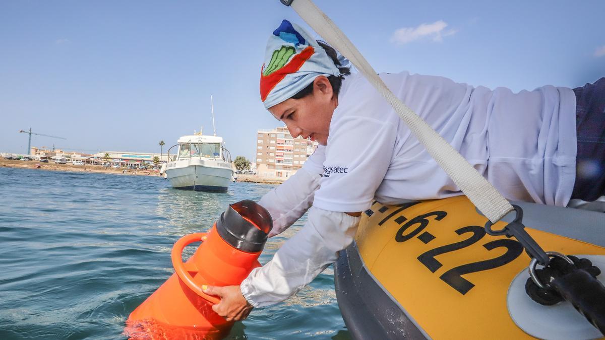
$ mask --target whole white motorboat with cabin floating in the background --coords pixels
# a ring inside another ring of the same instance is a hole
[[[168,149],[168,163],[160,169],[172,188],[194,191],[226,192],[234,178],[231,154],[218,136],[194,134],[178,139]],[[171,156],[174,149],[175,155]]]

